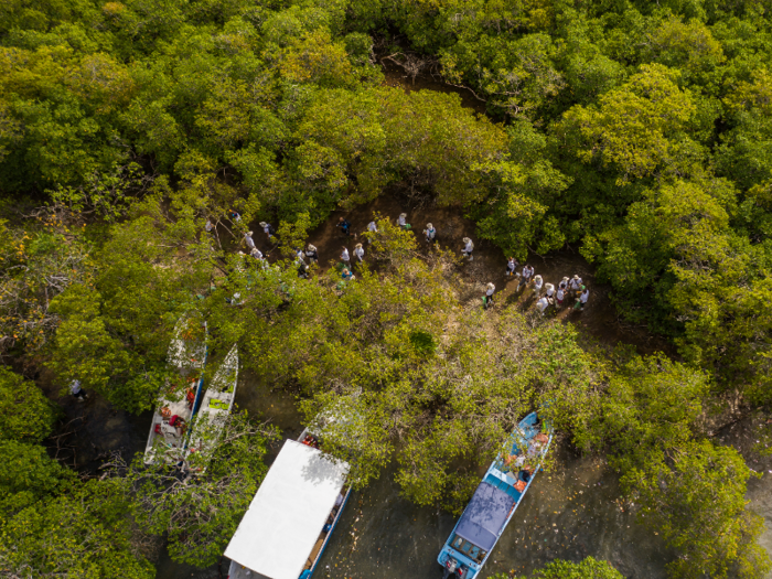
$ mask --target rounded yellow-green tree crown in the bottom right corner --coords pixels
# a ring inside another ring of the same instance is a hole
[[[757,543],[763,521],[746,510],[751,475],[735,449],[705,441],[655,454],[622,482],[642,505],[641,523],[682,553],[668,566],[674,577],[752,578],[770,560]]]

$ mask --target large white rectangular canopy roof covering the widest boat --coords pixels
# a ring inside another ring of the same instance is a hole
[[[345,462],[285,441],[225,556],[270,579],[298,579],[347,472]]]

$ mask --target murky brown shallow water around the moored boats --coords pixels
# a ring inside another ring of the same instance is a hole
[[[250,414],[270,417],[285,438],[301,431],[292,397],[269,390],[251,375],[240,379],[237,404]],[[566,444],[558,444],[556,452],[551,471],[537,475],[481,577],[528,573],[555,558],[580,560],[592,555],[610,560],[625,577],[664,579],[671,554],[615,501],[615,476],[601,461],[571,454]],[[367,489],[352,494],[314,577],[442,577],[436,558],[457,517],[403,498],[393,474],[387,470]],[[226,570],[223,561],[223,577]],[[221,573],[217,566],[195,569],[164,555],[157,577],[215,579]]]

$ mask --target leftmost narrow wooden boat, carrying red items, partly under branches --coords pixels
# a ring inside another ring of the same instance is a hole
[[[199,410],[206,366],[206,322],[200,312],[183,315],[176,322],[167,358],[180,373],[184,386],[158,400],[144,449],[146,464],[157,462],[160,457],[168,464],[184,458],[187,427]]]

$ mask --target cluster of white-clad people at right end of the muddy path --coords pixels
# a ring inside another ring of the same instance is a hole
[[[514,257],[510,257],[506,262],[507,279],[514,278],[517,280],[515,292],[519,291],[521,287],[526,288],[533,285],[534,296],[537,298],[536,309],[543,315],[550,305],[556,309],[564,308],[567,302],[570,302],[571,297],[575,299],[573,309],[578,311],[585,310],[585,305],[590,299],[590,290],[587,289],[583,280],[578,275],[575,275],[572,278],[564,277],[556,288],[553,283],[545,283],[542,276],[534,275],[533,266],[526,264],[521,271],[517,271],[517,260]],[[495,291],[496,287],[493,283],[489,283],[485,287],[485,294],[483,296],[483,307],[485,309],[493,305]]]

